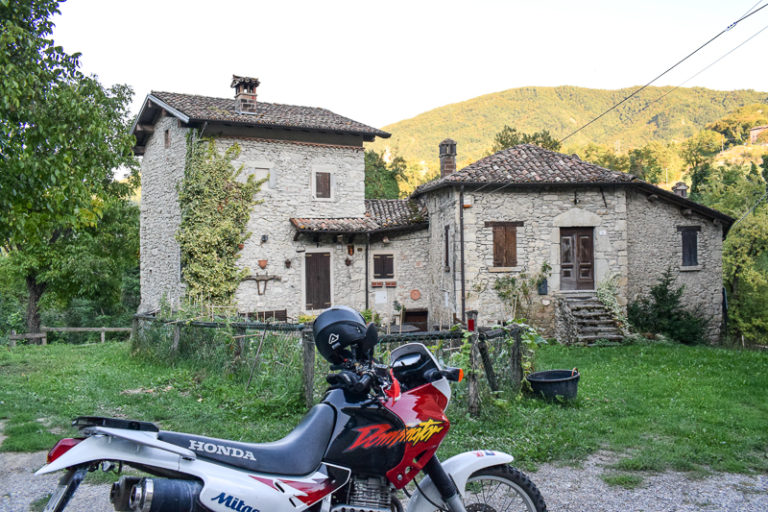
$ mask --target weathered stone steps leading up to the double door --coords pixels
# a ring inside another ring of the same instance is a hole
[[[555,318],[557,338],[571,345],[597,340],[622,341],[624,335],[613,314],[595,292],[561,292]]]

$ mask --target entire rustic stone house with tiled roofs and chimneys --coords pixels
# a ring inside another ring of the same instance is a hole
[[[552,333],[570,314],[567,300],[589,299],[614,278],[626,304],[671,266],[686,303],[712,317],[718,335],[722,240],[733,219],[684,189],[529,145],[456,171],[447,139],[439,179],[407,200],[366,200],[363,142],[389,134],[325,109],[257,101],[258,84],[233,77],[234,99],[153,92],[145,100],[133,128],[143,155],[141,311],[184,294],[176,190],[195,130],[221,148],[238,143],[244,173],[267,178],[241,251],[250,272],[236,293],[243,314],[296,318],[346,304],[421,329],[468,310],[491,324],[509,314],[495,280],[546,262],[533,316]]]

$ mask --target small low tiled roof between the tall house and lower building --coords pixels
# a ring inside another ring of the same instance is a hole
[[[408,199],[366,199],[364,217],[292,218],[297,233],[380,233],[427,226],[427,211]]]

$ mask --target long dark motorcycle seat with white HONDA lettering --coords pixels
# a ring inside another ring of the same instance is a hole
[[[260,473],[298,476],[318,468],[334,422],[333,408],[317,404],[287,436],[271,443],[241,443],[166,430],[161,430],[157,438],[192,450],[201,459]]]

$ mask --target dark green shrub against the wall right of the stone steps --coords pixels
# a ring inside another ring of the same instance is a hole
[[[642,332],[664,334],[680,343],[701,343],[708,320],[698,311],[683,308],[680,299],[685,287],[675,288],[674,281],[672,269],[667,268],[648,296],[629,304],[629,322]]]

